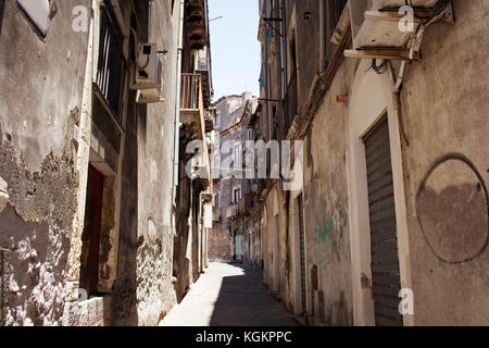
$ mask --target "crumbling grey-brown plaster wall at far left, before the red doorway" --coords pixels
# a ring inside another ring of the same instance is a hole
[[[67,253],[77,208],[74,125],[88,34],[72,30],[62,1],[41,39],[14,1],[0,28],[0,177],[10,196],[0,248],[11,250],[5,325],[60,325]],[[3,4],[2,4],[3,7]]]

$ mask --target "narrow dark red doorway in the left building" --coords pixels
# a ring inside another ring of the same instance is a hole
[[[79,287],[89,296],[97,294],[103,184],[103,174],[89,164],[79,274]]]

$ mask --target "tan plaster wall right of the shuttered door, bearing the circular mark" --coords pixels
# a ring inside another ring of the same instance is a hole
[[[489,323],[489,3],[453,4],[455,25],[428,28],[401,96],[416,325]]]

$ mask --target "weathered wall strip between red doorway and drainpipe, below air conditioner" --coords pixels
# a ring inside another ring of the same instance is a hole
[[[162,55],[162,103],[136,104],[129,92],[123,160],[122,213],[114,285],[116,325],[156,325],[176,302],[173,277],[173,146],[178,39],[178,9],[152,2],[148,13],[149,42]],[[145,11],[141,8],[140,11]]]

